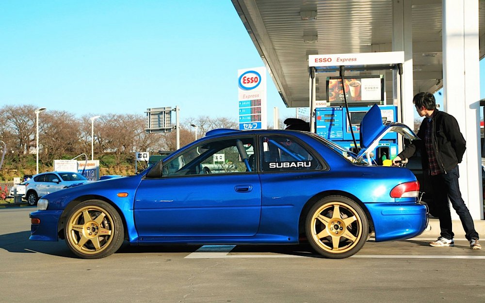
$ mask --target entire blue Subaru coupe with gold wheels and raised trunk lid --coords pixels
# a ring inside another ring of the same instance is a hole
[[[371,139],[391,129],[415,138],[405,128],[384,126],[379,108],[371,109],[358,155],[298,130],[212,130],[138,175],[46,195],[30,214],[29,239],[65,239],[75,255],[93,259],[124,239],[296,244],[304,235],[319,254],[348,257],[371,232],[376,241],[407,239],[427,225],[412,172],[366,160],[365,149],[377,145]]]

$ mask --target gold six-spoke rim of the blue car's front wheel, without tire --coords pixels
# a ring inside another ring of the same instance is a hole
[[[111,215],[97,206],[76,210],[66,228],[71,246],[86,255],[99,254],[109,247],[115,232]]]

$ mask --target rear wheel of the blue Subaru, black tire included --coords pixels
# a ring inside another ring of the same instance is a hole
[[[344,196],[328,196],[313,205],[305,221],[307,239],[324,257],[342,259],[356,254],[369,234],[362,207]]]

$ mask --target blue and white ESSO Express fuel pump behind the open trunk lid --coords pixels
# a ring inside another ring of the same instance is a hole
[[[398,113],[402,111],[403,62],[402,51],[310,55],[310,131],[357,153],[360,123],[373,104],[379,105],[383,124],[398,120]],[[397,98],[393,103],[397,106],[387,104],[384,75],[360,75],[383,70],[391,70],[393,77],[399,79],[399,85],[393,87],[399,90],[399,94],[393,94]],[[315,79],[320,73],[333,75],[326,78],[324,101],[316,99]],[[388,164],[386,160],[396,157],[398,149],[397,133],[388,133],[373,151],[373,164]]]

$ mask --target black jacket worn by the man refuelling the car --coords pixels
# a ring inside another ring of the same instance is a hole
[[[423,170],[428,169],[428,154],[426,153],[424,136],[429,125],[433,128],[431,142],[439,168],[441,173],[446,174],[461,162],[467,148],[467,142],[460,132],[458,122],[446,112],[440,112],[436,109],[431,123],[428,123],[428,118],[424,118],[417,134],[421,140],[415,140],[412,144],[408,144],[398,156],[401,159],[410,158],[413,156],[416,148],[419,148]]]

